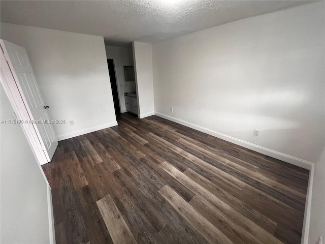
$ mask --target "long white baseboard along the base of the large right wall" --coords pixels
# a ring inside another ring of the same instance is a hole
[[[194,124],[189,123],[187,121],[184,121],[182,119],[171,117],[169,115],[159,113],[159,112],[154,112],[154,114],[159,116],[159,117],[166,118],[168,120],[174,121],[174,122],[176,122],[178,124],[181,124],[183,126],[187,126],[187,127],[192,128],[194,130],[204,132],[204,133],[209,134],[211,136],[215,136],[215,137],[220,138],[222,140],[232,142],[232,143],[234,143],[236,145],[243,146],[243,147],[251,149],[253,151],[257,151],[258,153],[270,156],[270,157],[278,159],[278,160],[282,160],[284,162],[299,166],[299,167],[304,168],[304,169],[311,170],[311,168],[313,166],[313,163],[308,162],[306,160],[299,159],[299,158],[296,158],[296,157],[293,157],[293,156],[290,156],[290,155],[282,154],[282,153],[279,153],[278,151],[274,151],[274,150],[268,149],[268,148],[263,147],[263,146],[258,146],[258,145],[255,145],[253,143],[243,141],[241,139],[237,139],[235,137],[228,136],[228,135],[225,135],[225,134],[222,134],[222,133],[219,133],[219,132],[204,128],[202,126],[194,125]]]

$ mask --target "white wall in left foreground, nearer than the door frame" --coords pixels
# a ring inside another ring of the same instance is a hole
[[[0,119],[15,119],[0,90]],[[20,125],[0,126],[0,242],[49,243],[47,182]]]

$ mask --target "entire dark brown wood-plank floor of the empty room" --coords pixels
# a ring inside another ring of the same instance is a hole
[[[151,116],[60,141],[56,243],[300,243],[309,171]]]

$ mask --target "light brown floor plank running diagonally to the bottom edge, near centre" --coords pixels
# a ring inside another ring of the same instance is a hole
[[[173,191],[168,185],[161,188],[159,193],[192,225],[208,242],[219,244],[233,244],[221,231],[214,227],[191,205]]]

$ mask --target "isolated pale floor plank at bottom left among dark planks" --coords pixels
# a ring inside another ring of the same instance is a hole
[[[133,234],[128,229],[112,197],[107,195],[96,203],[114,244],[136,244]]]

